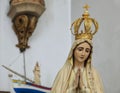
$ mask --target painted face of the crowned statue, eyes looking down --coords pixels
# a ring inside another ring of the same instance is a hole
[[[84,62],[91,51],[91,47],[87,42],[79,44],[74,50],[74,61]]]

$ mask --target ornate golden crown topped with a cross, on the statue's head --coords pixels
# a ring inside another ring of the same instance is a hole
[[[95,19],[89,17],[90,16],[88,12],[89,6],[87,4],[83,8],[84,13],[82,14],[82,17],[75,20],[71,25],[71,32],[73,35],[75,35],[76,40],[77,39],[92,40],[93,35],[98,31],[98,22]],[[79,31],[82,23],[84,24],[83,26],[84,30]],[[92,31],[93,25],[95,27],[94,31]],[[72,30],[72,28],[74,29],[74,31]]]

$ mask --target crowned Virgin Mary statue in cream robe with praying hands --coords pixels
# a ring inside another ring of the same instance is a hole
[[[100,76],[91,62],[92,38],[98,30],[98,23],[89,17],[88,5],[84,8],[82,17],[71,26],[75,41],[64,66],[54,80],[51,93],[104,93]],[[80,31],[81,26],[84,29]]]

